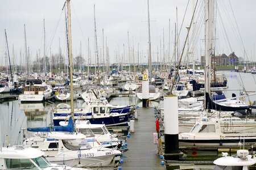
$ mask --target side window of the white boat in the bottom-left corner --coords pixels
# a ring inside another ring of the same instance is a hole
[[[30,159],[5,159],[7,169],[12,168],[34,168],[35,165],[30,161]]]

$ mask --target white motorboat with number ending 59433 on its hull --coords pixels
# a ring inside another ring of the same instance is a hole
[[[26,147],[36,147],[44,151],[49,162],[70,166],[113,163],[121,152],[102,146],[92,147],[81,133],[48,133],[47,137],[34,137],[23,143]]]

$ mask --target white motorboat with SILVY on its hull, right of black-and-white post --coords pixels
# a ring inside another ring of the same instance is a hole
[[[222,132],[220,119],[204,119],[196,122],[189,133],[179,133],[179,146],[240,146],[241,142],[254,146],[255,141],[255,131],[243,133],[228,129]]]

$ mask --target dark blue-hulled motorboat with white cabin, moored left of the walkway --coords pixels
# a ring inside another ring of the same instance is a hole
[[[98,100],[84,108],[74,108],[74,117],[75,120],[89,120],[91,124],[127,125],[134,110],[134,105],[112,105]],[[71,109],[55,109],[53,116],[53,124],[59,126],[60,121],[67,121],[71,116]]]

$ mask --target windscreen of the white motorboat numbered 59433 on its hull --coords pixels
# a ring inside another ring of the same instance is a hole
[[[68,150],[86,150],[91,148],[86,139],[62,140]]]

